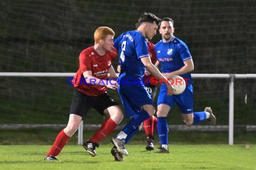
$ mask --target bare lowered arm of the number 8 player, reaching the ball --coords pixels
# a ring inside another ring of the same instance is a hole
[[[141,62],[146,66],[146,69],[155,77],[159,78],[159,80],[163,80],[166,83],[166,86],[168,88],[168,95],[172,95],[174,92],[173,86],[171,85],[171,82],[167,80],[166,77],[163,76],[163,74],[161,74],[161,72],[159,72],[159,70],[154,66],[154,64],[152,64],[150,57],[143,57],[141,58]]]

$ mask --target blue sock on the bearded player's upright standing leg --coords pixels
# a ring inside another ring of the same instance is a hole
[[[168,124],[167,117],[157,118],[157,129],[159,134],[160,145],[168,144]]]

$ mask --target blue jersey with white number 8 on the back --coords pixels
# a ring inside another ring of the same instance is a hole
[[[114,41],[115,48],[119,52],[121,72],[119,78],[127,76],[133,80],[144,76],[146,67],[141,58],[148,57],[148,45],[140,31],[127,31]]]

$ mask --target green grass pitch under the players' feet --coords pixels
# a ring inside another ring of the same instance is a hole
[[[128,144],[129,156],[114,161],[112,145],[91,157],[82,146],[67,144],[58,159],[43,161],[50,145],[0,145],[0,170],[256,170],[256,145],[170,145],[170,154]]]

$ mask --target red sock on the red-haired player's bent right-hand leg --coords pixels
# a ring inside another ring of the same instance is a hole
[[[100,129],[89,139],[91,142],[99,142],[114,131],[117,124],[110,118],[102,124]]]

